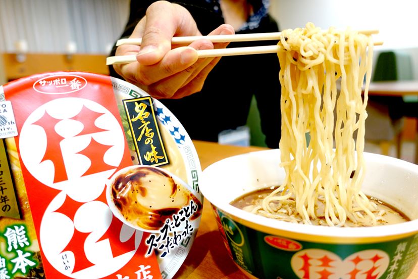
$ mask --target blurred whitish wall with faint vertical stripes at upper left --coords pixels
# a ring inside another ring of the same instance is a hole
[[[128,12],[129,0],[0,0],[0,52],[24,40],[28,52],[105,54]]]

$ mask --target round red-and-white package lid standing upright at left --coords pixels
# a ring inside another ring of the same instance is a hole
[[[0,86],[0,109],[1,278],[174,276],[200,222],[201,167],[162,103],[109,76],[53,72]]]

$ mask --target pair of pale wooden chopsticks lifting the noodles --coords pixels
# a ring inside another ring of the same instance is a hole
[[[360,30],[358,31],[358,33],[361,33],[364,35],[372,35],[372,34],[378,34],[379,30]],[[208,39],[212,42],[278,40],[280,39],[280,32],[173,37],[171,42],[172,44],[187,44],[198,39]],[[141,43],[142,43],[142,40],[140,38],[126,38],[126,39],[118,40],[116,42],[116,45],[117,46],[122,45],[122,44],[141,45]],[[380,41],[374,43],[374,45],[382,45],[382,44],[383,42],[380,42]],[[206,57],[220,57],[220,56],[233,56],[233,55],[277,53],[279,50],[280,50],[280,46],[275,44],[275,45],[247,46],[244,48],[198,50],[197,55],[199,58],[206,58]],[[126,63],[131,63],[131,62],[136,62],[136,55],[111,56],[106,59],[107,65],[126,64]]]

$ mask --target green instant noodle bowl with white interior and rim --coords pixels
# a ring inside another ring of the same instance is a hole
[[[410,221],[375,227],[290,223],[230,203],[280,185],[280,150],[233,156],[204,169],[200,190],[211,202],[226,248],[256,278],[407,278],[418,261],[418,165],[364,153],[362,192]]]

